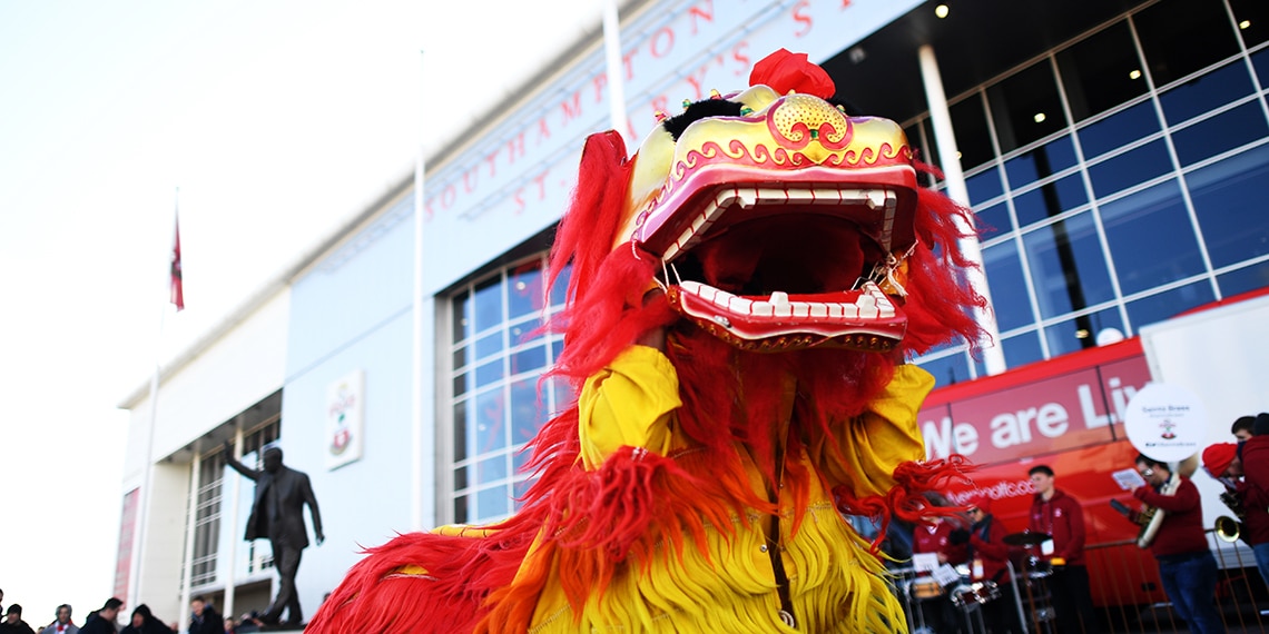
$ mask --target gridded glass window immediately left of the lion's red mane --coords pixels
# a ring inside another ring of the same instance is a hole
[[[448,522],[489,522],[514,511],[530,483],[520,469],[529,459],[524,444],[570,401],[563,382],[539,384],[563,344],[544,332],[543,317],[563,306],[567,285],[565,271],[546,295],[546,257],[501,268],[450,298]]]

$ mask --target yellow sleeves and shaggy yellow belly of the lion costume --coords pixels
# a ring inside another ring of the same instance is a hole
[[[707,526],[703,548],[690,543],[690,536],[681,553],[659,543],[652,560],[626,562],[603,592],[588,597],[581,614],[575,614],[560,587],[561,576],[570,571],[544,560],[551,548],[539,536],[513,582],[537,578],[542,583],[529,631],[905,631],[906,620],[882,563],[839,515],[830,488],[849,483],[857,496],[884,493],[893,486],[895,465],[924,459],[916,413],[933,384],[925,370],[900,365],[864,415],[834,430],[838,450],[826,443],[808,444],[798,456],[812,472],[808,505],[796,534],[793,496],[782,491],[778,540],[768,539],[765,519],[753,512],[747,522],[735,516],[730,531]],[[692,462],[700,453],[693,454],[690,439],[678,430],[680,406],[678,375],[669,359],[645,346],[623,351],[582,389],[582,464],[596,469],[618,449],[634,446],[709,478],[711,465]],[[753,460],[739,445],[737,451],[755,491],[765,491]],[[773,548],[779,549],[788,577],[796,626],[779,615]]]

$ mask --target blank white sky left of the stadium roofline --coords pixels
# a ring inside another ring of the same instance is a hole
[[[110,596],[176,186],[164,359],[410,172],[420,85],[430,153],[598,28],[598,0],[0,0],[4,605]]]

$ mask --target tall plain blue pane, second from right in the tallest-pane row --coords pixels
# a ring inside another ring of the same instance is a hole
[[[1203,273],[1175,180],[1103,205],[1101,223],[1124,294]]]

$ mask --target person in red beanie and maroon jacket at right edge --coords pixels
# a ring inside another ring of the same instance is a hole
[[[1221,501],[1226,506],[1233,501],[1241,507],[1240,539],[1251,547],[1260,578],[1269,585],[1269,436],[1208,446],[1203,450],[1203,470],[1225,484]]]

